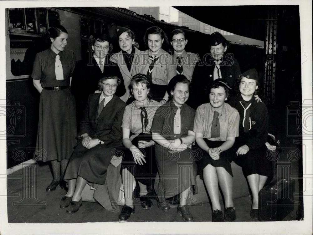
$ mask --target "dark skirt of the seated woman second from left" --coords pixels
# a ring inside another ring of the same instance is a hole
[[[138,140],[150,141],[152,140],[151,134],[141,133],[136,136],[131,143],[138,148]],[[155,160],[155,151],[154,146],[150,146],[147,148],[138,148],[143,155],[145,155],[146,163],[143,165],[136,164],[132,153],[129,149],[123,149],[123,161],[121,165],[121,170],[126,168],[131,174],[135,177],[135,179],[141,182],[144,185],[151,186],[154,184],[156,177],[156,160]]]

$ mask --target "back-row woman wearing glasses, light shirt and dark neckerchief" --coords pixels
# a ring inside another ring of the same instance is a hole
[[[188,40],[185,37],[184,31],[181,29],[173,30],[171,45],[174,49],[174,53],[167,70],[168,81],[176,74],[183,74],[189,81],[191,81],[193,70],[199,61],[199,56],[185,51],[187,43]]]

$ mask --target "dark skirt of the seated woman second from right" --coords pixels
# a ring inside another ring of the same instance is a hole
[[[219,147],[224,143],[224,141],[212,141],[212,140],[208,140],[206,138],[204,138],[203,140],[206,142],[206,144],[210,148]],[[197,151],[200,151],[200,157],[196,161],[197,166],[198,166],[198,174],[200,174],[203,171],[204,167],[206,167],[208,164],[210,164],[214,167],[225,168],[225,170],[233,177],[233,171],[232,171],[232,167],[230,165],[230,163],[233,161],[233,153],[234,153],[233,147],[226,150],[226,151],[221,152],[218,160],[213,160],[210,157],[210,155],[208,154],[208,152],[201,149],[197,143],[195,144],[195,146],[193,148],[197,149]]]

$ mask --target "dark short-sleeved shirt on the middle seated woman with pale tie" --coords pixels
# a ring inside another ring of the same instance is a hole
[[[188,130],[193,130],[195,110],[186,104],[181,107],[181,133],[174,134],[174,117],[177,106],[171,100],[156,110],[153,118],[151,132],[162,135],[167,140],[174,140],[188,135]]]

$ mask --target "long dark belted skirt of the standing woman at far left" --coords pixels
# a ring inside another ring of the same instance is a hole
[[[76,143],[75,99],[69,89],[43,89],[39,102],[38,159],[69,159]]]

